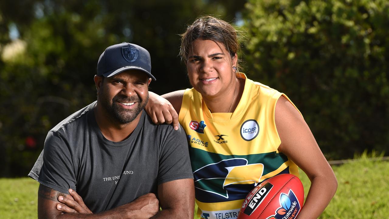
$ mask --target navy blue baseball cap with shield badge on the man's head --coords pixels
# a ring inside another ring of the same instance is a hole
[[[154,81],[156,80],[151,74],[151,59],[149,51],[136,44],[122,42],[120,44],[109,46],[98,59],[98,76],[108,78],[129,69],[143,71]]]

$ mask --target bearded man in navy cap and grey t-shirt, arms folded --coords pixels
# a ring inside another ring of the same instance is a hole
[[[153,124],[143,110],[151,78],[146,49],[130,43],[105,49],[97,101],[49,131],[29,174],[40,183],[39,218],[193,218],[185,132]],[[81,207],[69,204],[73,198]],[[61,214],[72,207],[86,214]]]

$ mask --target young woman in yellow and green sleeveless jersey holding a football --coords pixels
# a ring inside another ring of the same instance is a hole
[[[180,55],[193,88],[150,93],[146,110],[155,123],[178,121],[190,143],[198,215],[236,218],[245,196],[282,173],[311,187],[299,219],[317,218],[337,188],[336,177],[300,111],[285,94],[238,71],[237,31],[203,16],[182,34]]]

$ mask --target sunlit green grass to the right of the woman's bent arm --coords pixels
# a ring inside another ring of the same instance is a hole
[[[338,190],[320,218],[389,217],[389,162],[366,158],[363,154],[359,162],[333,167]],[[304,178],[305,189],[308,181]]]

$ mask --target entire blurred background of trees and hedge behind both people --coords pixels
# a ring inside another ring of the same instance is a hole
[[[189,87],[179,34],[201,14],[244,23],[244,72],[292,99],[328,159],[388,151],[389,0],[245,3],[0,1],[0,176],[25,176],[47,131],[96,99],[107,46],[150,51],[151,91]]]

